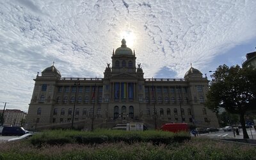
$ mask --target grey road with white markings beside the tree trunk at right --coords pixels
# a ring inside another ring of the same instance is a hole
[[[207,136],[209,138],[223,138],[223,139],[243,139],[243,131],[242,129],[239,129],[239,135],[234,135],[234,132],[229,131],[229,132],[224,132],[224,131],[218,131],[218,132],[209,132],[205,134],[198,134],[198,136]],[[248,136],[252,140],[256,140],[256,131],[255,129],[246,129]],[[252,132],[251,132],[252,131]]]

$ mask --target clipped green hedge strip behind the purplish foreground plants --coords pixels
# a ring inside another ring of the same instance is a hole
[[[186,132],[172,133],[165,131],[111,131],[97,130],[94,132],[81,131],[44,131],[36,134],[30,143],[42,147],[43,145],[64,145],[67,143],[79,143],[83,145],[118,143],[124,141],[132,144],[138,142],[152,142],[155,145],[184,142],[190,140],[190,134]]]

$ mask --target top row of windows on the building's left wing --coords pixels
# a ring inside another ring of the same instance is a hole
[[[97,86],[96,86],[96,90],[95,90],[95,87],[94,86],[58,86],[58,92],[61,93],[61,92],[70,92],[70,88],[71,88],[71,92],[72,93],[76,93],[76,90],[77,92],[79,93],[83,93],[83,92],[86,92],[86,93],[90,93],[91,92],[91,88],[92,88],[92,92],[99,92],[99,93],[102,93],[102,86],[98,87],[98,90],[97,90]]]

